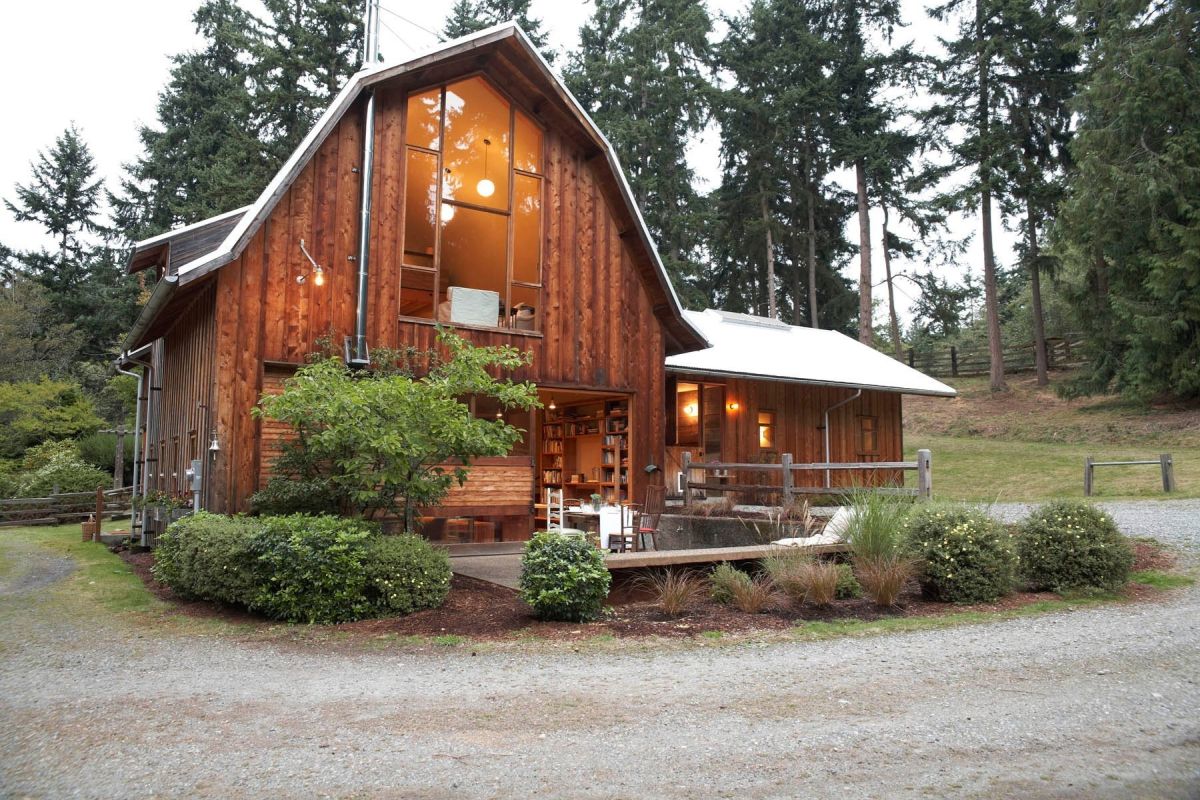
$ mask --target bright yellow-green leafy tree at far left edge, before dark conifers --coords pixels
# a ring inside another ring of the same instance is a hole
[[[47,439],[97,431],[103,420],[78,384],[68,380],[0,383],[0,458],[14,458]]]

